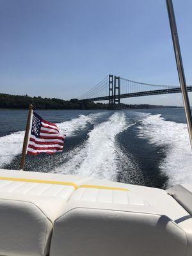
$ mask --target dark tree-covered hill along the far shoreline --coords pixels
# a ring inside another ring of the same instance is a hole
[[[38,109],[108,109],[108,104],[86,102],[77,99],[61,100],[56,98],[29,97],[28,95],[10,95],[0,93],[0,109],[27,109],[32,104]],[[156,106],[148,104],[120,104],[122,109],[138,108],[177,108],[172,106]]]

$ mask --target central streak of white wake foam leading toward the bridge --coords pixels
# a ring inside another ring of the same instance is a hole
[[[115,180],[118,173],[115,136],[126,128],[125,113],[114,113],[106,122],[96,125],[79,152],[74,152],[55,172]]]

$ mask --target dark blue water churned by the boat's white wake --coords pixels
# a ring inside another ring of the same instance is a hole
[[[36,111],[67,134],[63,153],[27,156],[25,170],[167,188],[192,182],[183,109]],[[0,168],[19,170],[27,111],[0,111]]]

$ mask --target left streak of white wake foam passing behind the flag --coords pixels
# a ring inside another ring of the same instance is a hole
[[[93,122],[102,113],[91,115],[79,115],[79,118],[74,118],[70,121],[57,124],[61,134],[72,136],[76,131],[84,129],[88,122]],[[22,143],[24,140],[24,131],[14,132],[10,135],[0,137],[0,168],[4,164],[9,164],[15,156],[21,154]]]

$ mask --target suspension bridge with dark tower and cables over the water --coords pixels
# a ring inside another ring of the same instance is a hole
[[[140,83],[120,76],[109,75],[77,99],[86,101],[108,100],[109,107],[113,107],[120,105],[120,99],[124,98],[180,92],[181,89],[178,85]],[[188,92],[192,92],[192,86],[188,86]]]

